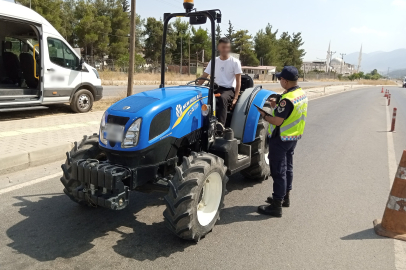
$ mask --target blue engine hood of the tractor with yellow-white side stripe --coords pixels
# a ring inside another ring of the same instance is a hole
[[[209,89],[199,86],[165,87],[142,92],[122,99],[113,104],[105,113],[121,117],[129,117],[125,131],[138,118],[142,118],[140,137],[137,146],[121,148],[120,143],[113,147],[110,144],[100,145],[116,151],[133,152],[147,148],[166,137],[182,138],[203,126],[201,106],[207,104]],[[162,111],[171,110],[169,128],[157,137],[149,140],[150,123]]]

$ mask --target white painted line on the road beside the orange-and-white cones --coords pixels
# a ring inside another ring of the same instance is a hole
[[[391,119],[389,106],[386,106],[386,126],[390,130]],[[393,180],[397,171],[397,163],[395,156],[395,143],[393,141],[393,133],[386,132],[388,142],[388,167],[389,167],[389,183],[392,188]],[[395,248],[395,267],[397,270],[406,270],[406,242],[401,240],[393,240]]]

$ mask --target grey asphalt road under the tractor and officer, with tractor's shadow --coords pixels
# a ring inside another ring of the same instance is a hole
[[[401,111],[393,135],[399,161],[406,91],[391,93]],[[382,96],[375,87],[310,101],[291,207],[281,219],[257,214],[271,181],[235,175],[221,220],[198,244],[165,228],[158,193],[132,193],[131,205],[113,212],[75,205],[57,177],[0,189],[0,269],[395,269],[404,254],[396,257],[394,240],[372,228],[390,188]],[[8,179],[37,179],[58,166]]]

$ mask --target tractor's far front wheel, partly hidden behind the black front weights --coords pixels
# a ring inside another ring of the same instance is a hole
[[[76,189],[80,182],[72,178],[72,163],[79,159],[97,159],[105,160],[106,156],[99,148],[99,136],[95,133],[92,136],[83,136],[80,143],[75,142],[75,146],[70,152],[66,153],[67,159],[65,164],[62,164],[63,175],[61,182],[64,185],[63,192],[74,202],[80,205],[92,206],[89,200],[80,200],[72,195],[72,191]]]

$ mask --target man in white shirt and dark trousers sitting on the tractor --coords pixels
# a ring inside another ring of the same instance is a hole
[[[238,101],[241,88],[241,62],[230,55],[231,42],[228,38],[221,38],[217,45],[220,56],[216,58],[214,81],[219,86],[216,95],[216,116],[225,125],[227,119],[227,107],[231,103],[231,110]],[[203,73],[203,78],[209,77],[211,61]],[[199,82],[203,83],[203,80]],[[220,94],[220,96],[218,96]],[[219,128],[218,128],[219,129]],[[224,127],[222,127],[224,129]]]

